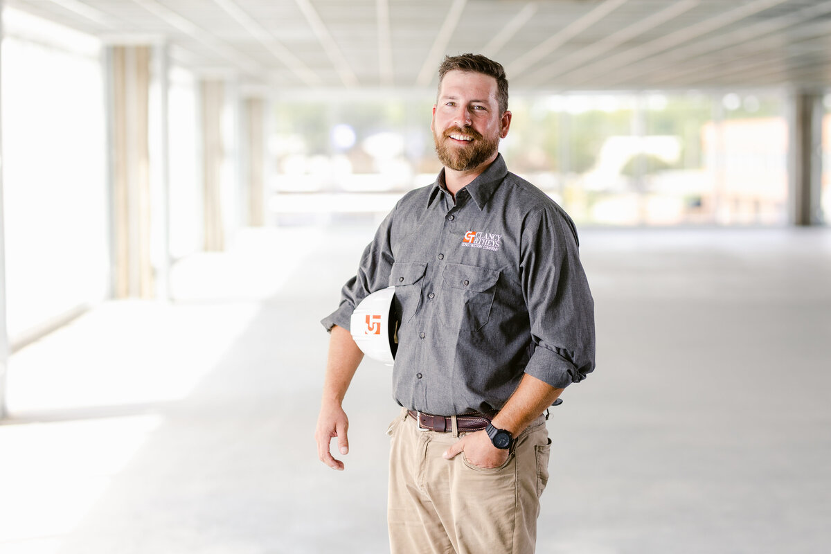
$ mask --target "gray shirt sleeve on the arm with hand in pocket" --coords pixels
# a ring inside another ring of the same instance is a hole
[[[529,214],[520,258],[534,342],[525,373],[565,388],[594,370],[594,301],[571,218],[553,208]]]

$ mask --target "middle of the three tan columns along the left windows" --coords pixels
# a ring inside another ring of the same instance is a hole
[[[222,162],[224,159],[221,125],[224,98],[222,81],[202,81],[202,179],[204,209],[204,250],[225,248],[222,213]]]

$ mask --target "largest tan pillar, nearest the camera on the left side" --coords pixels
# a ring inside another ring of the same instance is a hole
[[[113,292],[150,298],[150,47],[111,47],[111,64]]]

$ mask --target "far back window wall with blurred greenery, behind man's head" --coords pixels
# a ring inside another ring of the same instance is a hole
[[[370,212],[429,184],[440,169],[432,98],[416,98],[282,101],[273,153],[283,198],[273,206],[287,213],[299,202],[287,194],[337,194],[332,203],[307,198],[301,211]],[[788,137],[779,94],[515,94],[510,108],[499,147],[509,169],[578,223],[785,221]],[[377,195],[384,198],[375,202]]]

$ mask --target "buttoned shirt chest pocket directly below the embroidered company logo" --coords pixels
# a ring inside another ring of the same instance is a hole
[[[499,271],[448,263],[441,277],[441,321],[451,329],[479,331],[490,319]]]

